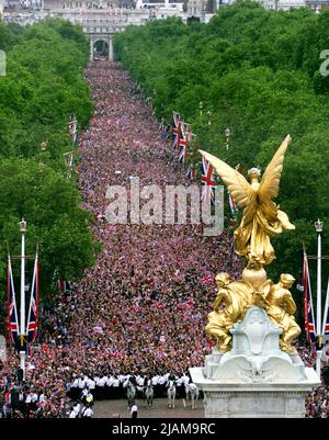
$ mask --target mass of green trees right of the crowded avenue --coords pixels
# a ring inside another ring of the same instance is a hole
[[[324,49],[329,49],[328,10],[271,12],[256,2],[222,8],[208,24],[186,26],[169,19],[115,36],[116,54],[152,98],[158,117],[169,122],[172,110],[180,112],[198,145],[231,166],[264,170],[292,135],[280,204],[296,230],[274,241],[277,261],[269,268],[274,280],[281,272],[300,277],[303,242],[316,253],[314,222],[320,217],[329,227],[329,76],[319,71]],[[329,248],[329,234],[324,245]]]

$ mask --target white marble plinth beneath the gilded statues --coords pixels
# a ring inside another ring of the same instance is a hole
[[[305,417],[305,396],[320,380],[299,356],[280,349],[282,328],[251,306],[230,329],[232,348],[213,349],[204,368],[191,368],[205,395],[205,417]]]

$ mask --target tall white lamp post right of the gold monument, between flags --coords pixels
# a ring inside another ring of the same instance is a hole
[[[316,233],[318,235],[318,256],[317,256],[317,362],[316,370],[318,375],[321,375],[321,356],[322,356],[322,328],[321,328],[321,233],[322,233],[324,222],[319,218],[315,223]]]

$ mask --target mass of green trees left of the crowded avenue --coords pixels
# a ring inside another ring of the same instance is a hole
[[[47,20],[25,29],[0,23],[0,48],[7,55],[7,75],[0,77],[0,294],[5,292],[7,242],[12,255],[20,255],[24,217],[26,252],[33,255],[38,244],[41,293],[47,300],[54,278],[81,277],[99,250],[76,178],[66,178],[64,157],[75,148],[70,115],[82,129],[93,110],[83,78],[89,44],[79,26]],[[13,264],[19,275],[20,260]],[[30,260],[27,280],[32,271]]]

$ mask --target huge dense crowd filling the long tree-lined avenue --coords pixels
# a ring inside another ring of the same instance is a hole
[[[228,232],[205,237],[203,225],[191,223],[106,222],[109,185],[128,190],[138,177],[140,188],[156,183],[164,190],[191,180],[171,143],[161,138],[149,101],[120,64],[92,64],[86,79],[95,110],[79,142],[78,179],[103,249],[83,280],[43,308],[24,382],[15,354],[8,351],[0,365],[4,416],[68,417],[82,392],[122,396],[129,375],[166,382],[172,374],[183,381],[213,347],[204,327],[216,295],[215,274],[226,271],[234,280],[242,270]],[[298,351],[314,364],[307,348]],[[309,417],[322,417],[328,395],[322,386],[307,397]]]

